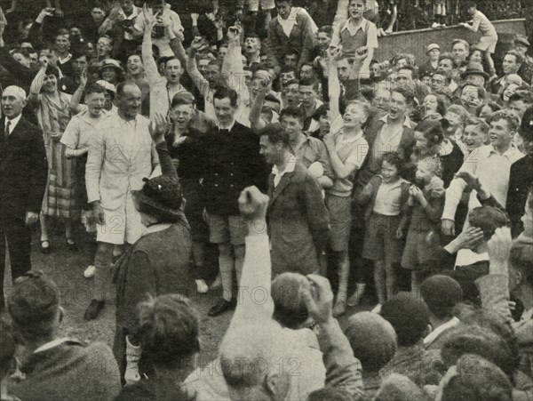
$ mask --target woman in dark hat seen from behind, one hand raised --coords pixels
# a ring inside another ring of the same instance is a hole
[[[135,316],[139,301],[145,301],[147,295],[187,294],[192,287],[188,272],[190,229],[182,210],[178,174],[163,137],[167,128],[168,124],[161,115],[156,115],[150,125],[163,175],[151,180],[145,178],[144,187],[134,193],[135,205],[146,232],[116,262],[113,350],[121,373],[125,372],[125,381],[139,380],[140,348],[133,345],[136,343]]]

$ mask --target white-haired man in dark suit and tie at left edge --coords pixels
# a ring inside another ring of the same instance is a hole
[[[8,86],[2,93],[0,119],[0,290],[4,308],[6,243],[12,279],[31,269],[30,227],[39,219],[48,161],[43,133],[21,114],[26,92]]]

